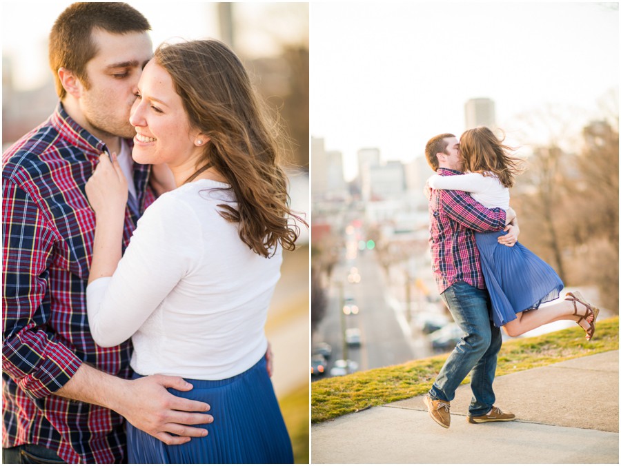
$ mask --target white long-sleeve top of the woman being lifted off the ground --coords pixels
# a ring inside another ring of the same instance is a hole
[[[509,208],[509,188],[505,188],[497,176],[482,173],[464,173],[452,176],[435,174],[428,180],[429,186],[435,190],[457,190],[470,192],[475,201],[488,209]]]

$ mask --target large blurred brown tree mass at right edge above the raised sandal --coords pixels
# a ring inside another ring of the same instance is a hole
[[[618,127],[617,127],[618,128]],[[596,121],[571,136],[575,154],[540,146],[512,192],[520,241],[549,262],[564,283],[595,285],[599,303],[619,305],[619,134]]]

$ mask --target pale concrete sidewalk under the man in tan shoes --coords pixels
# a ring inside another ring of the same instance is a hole
[[[509,423],[466,421],[472,392],[457,389],[451,428],[422,396],[313,425],[313,463],[619,463],[619,352],[497,377]]]

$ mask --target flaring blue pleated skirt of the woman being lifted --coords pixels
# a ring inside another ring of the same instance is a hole
[[[554,269],[520,242],[513,247],[498,243],[504,234],[502,230],[475,233],[496,327],[513,321],[517,312],[537,309],[558,298],[564,286]]]

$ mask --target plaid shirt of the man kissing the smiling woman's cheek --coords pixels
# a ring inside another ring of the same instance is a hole
[[[124,420],[53,393],[82,363],[131,376],[128,341],[95,344],[86,283],[95,214],[84,185],[107,150],[59,103],[50,118],[3,154],[3,447],[34,443],[68,463],[124,459]],[[148,165],[135,165],[141,212],[155,199]],[[126,211],[124,248],[137,216]]]

